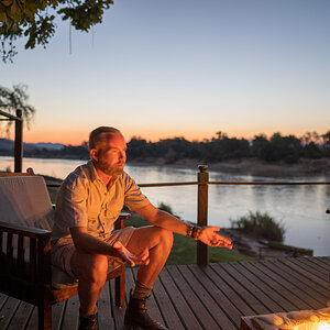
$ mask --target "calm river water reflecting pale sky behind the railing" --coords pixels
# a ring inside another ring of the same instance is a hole
[[[24,158],[23,168],[33,167],[37,174],[65,178],[85,161]],[[0,157],[0,170],[11,168],[12,157]],[[195,182],[197,168],[183,169],[162,166],[132,166],[125,170],[138,184]],[[210,172],[215,182],[330,182],[326,175],[308,177],[258,177]],[[172,207],[182,219],[197,219],[197,186],[142,188],[158,206]],[[230,227],[249,211],[268,212],[286,229],[285,243],[312,249],[317,256],[330,255],[330,186],[209,186],[209,224]]]

